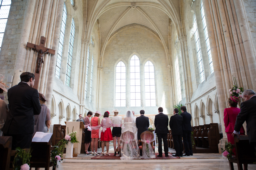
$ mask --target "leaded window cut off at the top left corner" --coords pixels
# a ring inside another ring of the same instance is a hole
[[[0,4],[0,50],[2,46],[3,34],[5,31],[11,3],[11,0],[1,0]]]

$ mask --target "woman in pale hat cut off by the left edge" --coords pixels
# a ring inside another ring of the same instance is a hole
[[[1,74],[1,78],[3,80],[4,76]],[[2,80],[0,80],[0,94],[3,93],[3,91],[6,91],[6,88],[5,87],[8,87],[5,85],[5,83],[2,82]],[[3,128],[3,125],[4,125],[4,122],[7,118],[7,114],[9,112],[9,108],[8,108],[8,105],[6,104],[6,102],[4,100],[2,100],[0,98],[0,136],[2,136],[2,128]]]

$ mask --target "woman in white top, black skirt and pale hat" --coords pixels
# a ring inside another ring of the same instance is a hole
[[[118,115],[118,110],[114,110],[112,111],[113,114],[115,114],[112,117],[112,136],[113,136],[113,140],[114,140],[114,151],[115,154],[114,156],[120,156],[120,136],[121,136],[121,127],[122,127],[122,117],[121,116],[117,116]],[[118,153],[116,155],[116,139],[117,139],[117,148],[118,148]]]

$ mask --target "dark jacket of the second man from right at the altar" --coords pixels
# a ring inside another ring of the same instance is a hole
[[[170,129],[172,130],[172,135],[182,135],[182,123],[183,117],[179,114],[173,115],[170,118]]]

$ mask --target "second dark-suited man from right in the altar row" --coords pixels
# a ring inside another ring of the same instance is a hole
[[[182,123],[183,117],[179,115],[179,109],[175,108],[173,110],[173,116],[170,118],[170,129],[172,130],[173,145],[176,154],[173,156],[182,156]]]

